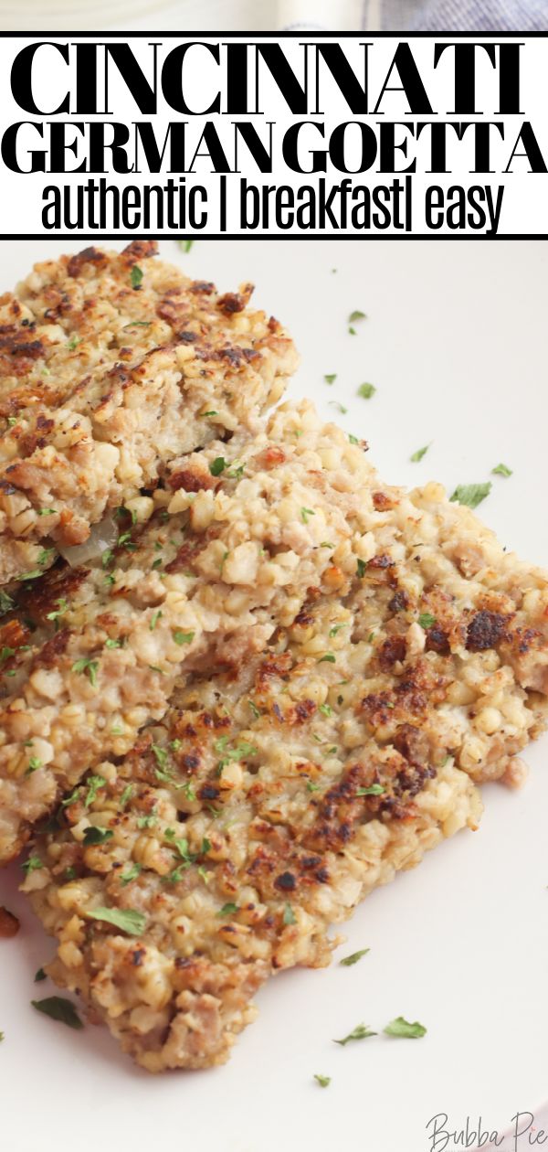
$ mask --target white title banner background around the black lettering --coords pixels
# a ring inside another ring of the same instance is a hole
[[[151,35],[151,39],[160,40],[161,37]],[[124,37],[125,39],[125,37]],[[201,38],[204,39],[204,37]],[[303,39],[306,39],[303,37]],[[309,37],[310,39],[310,37]],[[313,39],[313,37],[312,37]],[[341,37],[337,37],[341,39]],[[403,123],[414,122],[417,120],[429,121],[429,120],[473,120],[473,116],[451,116],[450,111],[455,106],[454,98],[454,52],[452,50],[446,50],[443,56],[441,58],[437,68],[433,67],[434,59],[434,43],[442,40],[443,37],[432,37],[425,39],[411,38],[413,56],[417,61],[420,75],[423,77],[424,84],[426,86],[427,93],[429,96],[431,104],[434,108],[434,116],[414,116],[408,113],[408,101],[402,96],[402,93],[387,93],[381,104],[382,115],[374,115],[373,113],[368,118],[368,122],[372,127],[376,126],[378,122],[382,120],[395,120],[402,121]],[[450,39],[450,38],[449,38]],[[487,43],[488,37],[482,37]],[[522,38],[523,39],[523,38]],[[62,37],[58,37],[58,40],[62,40]],[[70,38],[73,41],[74,38]],[[367,40],[374,40],[371,36],[367,36]],[[0,136],[3,135],[5,129],[8,124],[13,122],[18,122],[21,120],[32,120],[28,113],[24,113],[15,104],[12,92],[10,92],[10,70],[12,63],[16,55],[18,48],[23,46],[25,41],[17,39],[2,39],[0,40]],[[132,39],[130,40],[134,52],[137,55],[144,71],[146,75],[152,77],[152,50],[149,47],[149,38]],[[160,60],[163,60],[170,47],[173,47],[177,40],[165,40],[163,48],[160,50]],[[294,67],[298,76],[303,76],[303,47],[300,44],[300,38],[298,39],[287,39],[284,43],[284,51],[288,59]],[[378,96],[381,91],[383,81],[390,67],[394,52],[398,38],[389,37],[386,39],[374,40],[372,48],[370,50],[370,108],[373,109],[376,105]],[[357,75],[363,75],[363,50],[360,48],[360,40],[348,40],[345,51],[348,58],[355,68]],[[525,46],[522,50],[522,111],[525,113],[525,119],[528,119],[533,123],[533,128],[538,136],[539,145],[543,151],[545,159],[548,158],[548,91],[547,91],[547,77],[548,77],[548,39],[530,39],[525,41]],[[496,115],[498,107],[497,94],[498,94],[498,74],[495,71],[489,63],[487,55],[479,51],[477,52],[477,81],[478,91],[480,93],[477,107],[480,111],[478,116],[479,120],[501,120]],[[221,55],[221,59],[223,56]],[[312,67],[312,66],[311,66]],[[99,67],[99,75],[100,75]],[[215,92],[219,86],[219,75],[222,76],[222,68],[218,68],[215,62],[212,60],[210,54],[205,48],[195,47],[189,53],[188,61],[185,63],[185,76],[188,76],[189,84],[192,84],[192,93],[196,92],[196,104],[192,103],[193,107],[203,108],[207,107],[211,100],[214,98]],[[315,184],[318,181],[318,175],[309,177],[306,175],[298,175],[291,173],[289,169],[284,168],[281,158],[281,141],[284,130],[291,124],[292,120],[300,119],[312,119],[321,120],[321,116],[296,116],[291,118],[288,112],[287,105],[281,97],[276,84],[272,78],[269,78],[268,70],[262,67],[260,70],[262,92],[265,94],[264,107],[267,108],[266,115],[259,116],[233,116],[233,115],[218,115],[212,116],[215,123],[219,126],[219,131],[226,145],[226,151],[228,152],[229,159],[230,154],[234,152],[233,145],[233,134],[234,129],[231,127],[233,120],[246,120],[251,119],[258,130],[261,132],[265,130],[265,121],[274,120],[276,121],[276,153],[275,153],[275,167],[274,176],[261,175],[258,172],[256,165],[251,160],[246,160],[245,146],[242,146],[242,165],[243,175],[246,175],[249,180],[253,183],[265,183],[265,184],[289,184],[297,188],[300,184]],[[312,84],[313,84],[313,68],[311,70]],[[341,97],[338,89],[333,81],[333,78],[327,73],[327,69],[322,69],[322,92],[324,92],[324,107],[328,107],[328,115],[325,118],[326,122],[326,139],[329,138],[330,132],[335,126],[340,122],[345,122],[352,120],[352,115],[349,113],[348,106],[344,99]],[[38,98],[40,107],[50,108],[56,107],[59,101],[62,100],[67,91],[67,78],[73,79],[74,86],[74,68],[73,66],[67,67],[62,61],[58,52],[52,47],[40,47],[36,58],[35,68],[35,91]],[[250,67],[250,85],[254,83],[254,70]],[[397,84],[397,73],[394,71],[390,84]],[[131,124],[135,120],[146,120],[147,118],[139,113],[137,105],[134,103],[132,98],[129,96],[128,90],[123,82],[120,79],[117,69],[111,66],[111,84],[109,91],[112,93],[111,107],[114,109],[113,118],[105,116],[86,116],[86,115],[74,115],[66,116],[60,115],[55,118],[46,118],[47,120],[101,120],[101,119],[114,119],[116,121]],[[45,103],[41,103],[41,101]],[[190,104],[190,100],[189,100]],[[224,104],[222,105],[224,107]],[[160,106],[158,115],[154,118],[155,130],[158,139],[161,142],[165,138],[165,132],[170,120],[176,120],[177,114],[169,109],[162,100],[160,100]],[[180,118],[181,119],[181,118]],[[198,142],[201,134],[203,123],[205,119],[201,116],[187,118],[190,120],[188,127],[189,147],[188,147],[188,164],[191,164],[192,156],[198,146]],[[500,223],[500,233],[505,234],[546,234],[548,233],[548,210],[547,210],[547,185],[548,175],[547,174],[532,174],[528,170],[528,162],[526,159],[516,158],[512,161],[512,172],[508,175],[503,175],[504,168],[508,166],[515,142],[517,139],[519,129],[523,123],[523,116],[512,115],[508,116],[505,120],[505,138],[501,142],[498,136],[494,142],[493,147],[493,174],[488,177],[495,187],[504,185],[504,198],[503,209]],[[222,122],[222,123],[221,123]],[[25,141],[25,147],[33,149],[47,149],[47,135],[46,143],[41,143],[39,138],[35,135],[32,128],[24,129],[25,136],[22,139]],[[319,137],[312,135],[313,130],[310,129],[310,138],[313,142],[312,146],[317,147],[318,144],[321,145]],[[406,137],[405,129],[401,129],[402,138]],[[76,166],[86,157],[86,142],[82,138],[77,130],[70,138],[78,139],[78,152],[77,159],[74,159],[69,154],[69,159]],[[356,132],[357,136],[357,132]],[[305,138],[305,137],[304,137]],[[408,142],[409,158],[412,159],[417,156],[417,174],[413,176],[413,188],[414,188],[414,205],[416,211],[413,214],[413,225],[417,233],[427,233],[423,203],[424,194],[429,184],[440,184],[448,189],[454,184],[463,184],[464,187],[470,185],[482,185],[486,183],[485,174],[474,174],[471,172],[473,167],[473,137],[471,135],[471,129],[467,130],[464,136],[463,143],[455,145],[449,138],[448,156],[449,165],[451,172],[447,175],[432,175],[428,173],[431,167],[429,162],[429,150],[428,150],[428,138],[429,132],[425,130],[420,141],[417,143],[412,138]],[[26,164],[26,158],[21,158],[21,164],[24,166]],[[402,169],[406,166],[409,160],[401,157]],[[548,161],[547,161],[548,162]],[[304,162],[306,167],[306,164]],[[380,174],[376,170],[378,165],[374,166],[370,172],[353,177],[355,183],[358,184],[390,184],[394,176],[390,174]],[[208,230],[215,233],[219,230],[219,215],[218,215],[218,185],[219,177],[211,175],[211,161],[207,159],[198,160],[196,162],[196,174],[189,175],[188,183],[193,179],[196,182],[203,183],[207,182],[211,188],[211,215],[208,220]],[[79,175],[67,175],[63,174],[41,174],[35,173],[29,175],[20,175],[17,173],[10,172],[3,165],[0,166],[0,209],[2,219],[2,232],[9,235],[17,234],[39,234],[41,233],[41,190],[43,188],[52,184],[64,184],[64,183],[76,183],[86,182],[93,174],[82,173]],[[321,174],[320,174],[321,175]],[[337,184],[342,179],[344,179],[344,173],[338,173],[328,164],[327,180],[330,184]],[[97,179],[97,177],[96,177]],[[108,179],[108,173],[105,179]],[[153,174],[132,174],[124,176],[121,174],[115,174],[114,180],[116,184],[122,187],[123,184],[143,185],[143,183],[152,182],[155,184],[163,184],[167,179],[167,173]],[[236,233],[239,230],[239,212],[238,212],[238,188],[239,188],[239,176],[229,176],[229,189],[230,189],[230,200],[229,200],[229,219],[228,219],[228,232]],[[84,229],[84,233],[89,229]],[[112,227],[107,228],[108,232],[113,232]],[[157,229],[152,226],[152,232]],[[271,232],[274,230],[274,225],[271,221]],[[295,227],[296,233],[298,229]],[[390,233],[388,229],[383,232],[376,232],[378,236],[386,236]],[[469,229],[470,230],[470,229]],[[448,235],[451,234],[450,229],[442,229],[447,232]],[[256,235],[257,233],[254,233]],[[260,229],[259,229],[260,234]],[[396,235],[397,235],[396,230]],[[437,233],[440,234],[440,233]],[[454,233],[452,233],[454,234]]]

